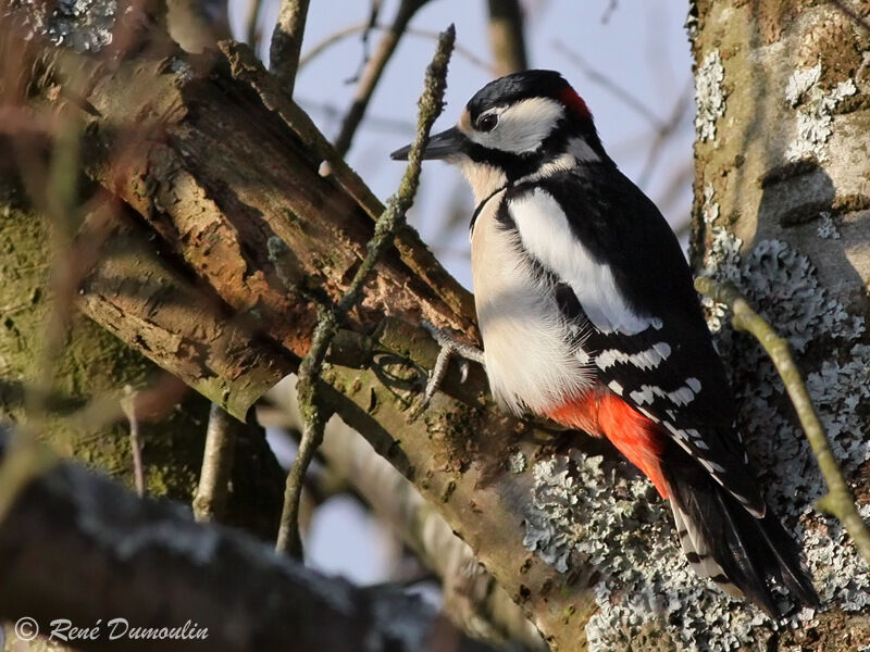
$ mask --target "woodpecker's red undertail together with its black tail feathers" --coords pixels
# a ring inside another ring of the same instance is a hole
[[[819,598],[797,546],[773,511],[756,516],[650,418],[598,388],[547,412],[555,422],[607,437],[670,499],[680,543],[695,572],[725,592],[747,595],[771,618],[781,615],[775,580],[811,606]],[[662,466],[662,457],[667,466]]]

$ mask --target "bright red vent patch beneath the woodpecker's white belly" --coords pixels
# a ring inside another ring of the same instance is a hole
[[[619,452],[652,480],[662,498],[668,482],[661,473],[662,434],[651,421],[609,390],[591,391],[547,412],[556,423],[607,437]]]

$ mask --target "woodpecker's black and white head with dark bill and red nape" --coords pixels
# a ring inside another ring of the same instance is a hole
[[[410,146],[393,152],[405,160]],[[477,200],[534,175],[610,162],[586,102],[554,71],[500,77],[465,104],[455,127],[432,136],[424,159],[458,165]]]

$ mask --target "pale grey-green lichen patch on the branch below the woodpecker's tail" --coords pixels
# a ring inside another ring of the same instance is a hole
[[[723,651],[767,622],[698,578],[651,484],[614,477],[600,456],[535,464],[524,542],[562,573],[579,563],[601,574],[599,611],[586,626],[591,652],[632,650],[650,622],[680,650]]]

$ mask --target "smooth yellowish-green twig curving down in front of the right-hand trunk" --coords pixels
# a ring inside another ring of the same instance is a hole
[[[834,453],[831,451],[831,444],[819,421],[819,415],[816,414],[816,408],[809,398],[800,372],[792,359],[788,342],[776,335],[770,324],[749,306],[746,299],[732,284],[719,284],[712,278],[703,276],[695,279],[695,288],[713,301],[728,305],[733,313],[731,321],[734,328],[753,334],[770,355],[785,385],[788,398],[792,399],[804,434],[828,486],[828,493],[816,502],[816,507],[835,516],[846,527],[846,531],[855,541],[865,562],[870,565],[870,530],[855,506],[855,500],[843,478],[840,466],[837,466]]]

